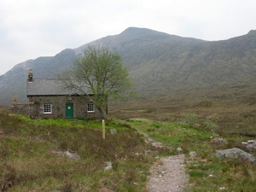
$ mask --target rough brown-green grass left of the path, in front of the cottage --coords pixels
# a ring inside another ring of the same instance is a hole
[[[143,191],[154,149],[118,122],[27,119],[0,112],[0,188],[8,191]],[[117,135],[109,129],[115,128]],[[72,150],[79,160],[50,152]],[[137,155],[140,154],[140,155]],[[106,161],[113,170],[104,171]],[[3,190],[4,191],[4,190]]]

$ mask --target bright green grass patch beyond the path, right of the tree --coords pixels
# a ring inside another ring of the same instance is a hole
[[[208,141],[214,133],[186,123],[169,121],[137,121],[129,120],[148,136],[164,143],[168,147],[182,147],[185,151],[199,151],[204,141]],[[192,144],[193,143],[193,144]]]

